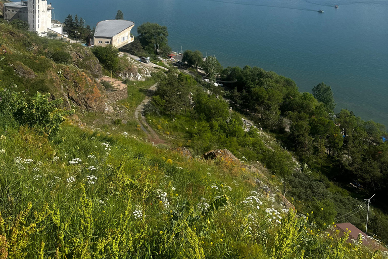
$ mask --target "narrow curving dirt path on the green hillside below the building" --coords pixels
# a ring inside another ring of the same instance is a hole
[[[154,95],[154,92],[156,90],[158,83],[154,84],[152,87],[150,87],[147,91],[147,96],[144,98],[144,100],[136,107],[134,117],[137,121],[139,121],[139,124],[141,125],[141,130],[145,132],[148,136],[148,139],[153,142],[154,144],[166,144],[164,140],[160,139],[158,134],[152,129],[152,127],[147,123],[146,117],[144,117],[143,110],[144,106],[146,106],[150,101],[151,97]],[[140,119],[139,119],[140,115]],[[145,128],[146,126],[147,128]]]

